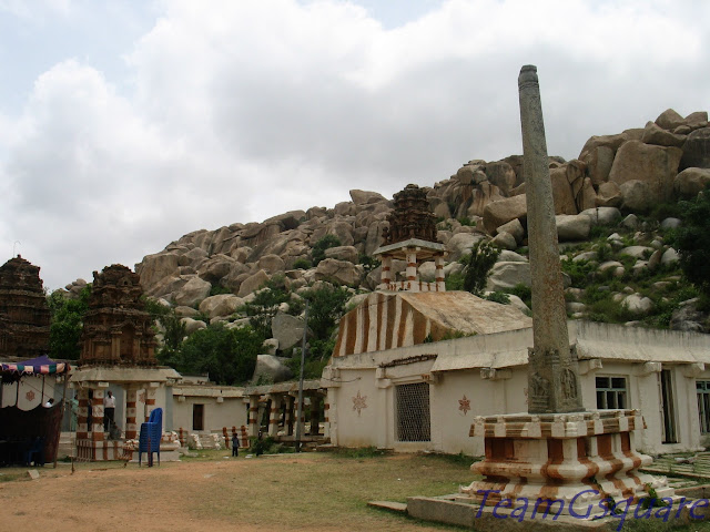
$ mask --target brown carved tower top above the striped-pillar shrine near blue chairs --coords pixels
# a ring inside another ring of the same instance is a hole
[[[82,331],[82,364],[154,366],[153,318],[144,309],[140,277],[114,264],[93,273]]]

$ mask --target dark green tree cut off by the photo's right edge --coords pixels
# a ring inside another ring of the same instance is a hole
[[[710,297],[710,187],[692,201],[679,202],[679,206],[682,225],[670,241],[688,280]]]

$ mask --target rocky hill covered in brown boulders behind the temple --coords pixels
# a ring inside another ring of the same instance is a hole
[[[609,300],[620,308],[611,313],[616,320],[668,326],[669,316],[656,321],[649,316],[671,313],[662,299],[676,297],[667,290],[682,285],[677,254],[663,242],[665,232],[679,221],[656,223],[653,215],[659,205],[692,197],[710,182],[708,113],[682,117],[668,110],[643,127],[592,136],[578,158],[550,157],[549,166],[570,315],[607,319],[612,304],[607,314],[598,304]],[[449,280],[460,275],[457,260],[471,245],[490,238],[507,252],[494,268],[489,289],[524,293],[529,266],[523,157],[469,161],[426,191],[439,219],[438,241],[448,250]],[[349,195],[351,201],[332,208],[311,207],[262,223],[189,233],[145,256],[135,270],[145,291],[175,307],[180,316],[200,313],[196,327],[207,317],[233,320],[235,310],[274,275],[283,275],[294,291],[318,282],[346,285],[353,294],[373,290],[379,268],[373,269],[371,256],[381,244],[392,202],[376,192],[353,190]],[[314,266],[314,247],[327,235],[337,237],[339,245],[325,249],[325,258]],[[434,265],[422,265],[419,273],[433,277]],[[660,285],[649,288],[653,283]],[[586,295],[591,286],[604,297]],[[682,303],[673,299],[672,313]],[[703,323],[691,319],[674,326],[706,330]]]

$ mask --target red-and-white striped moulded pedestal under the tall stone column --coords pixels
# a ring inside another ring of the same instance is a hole
[[[672,499],[665,477],[638,471],[652,462],[633,447],[639,428],[638,410],[478,417],[470,436],[484,436],[486,458],[471,470],[485,478],[462,487],[459,499],[485,505],[510,499],[514,507],[561,501],[565,514],[611,501]]]

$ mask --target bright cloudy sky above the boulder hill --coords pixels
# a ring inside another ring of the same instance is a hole
[[[704,0],[0,0],[0,264],[52,290],[196,229],[390,197],[710,105]]]

